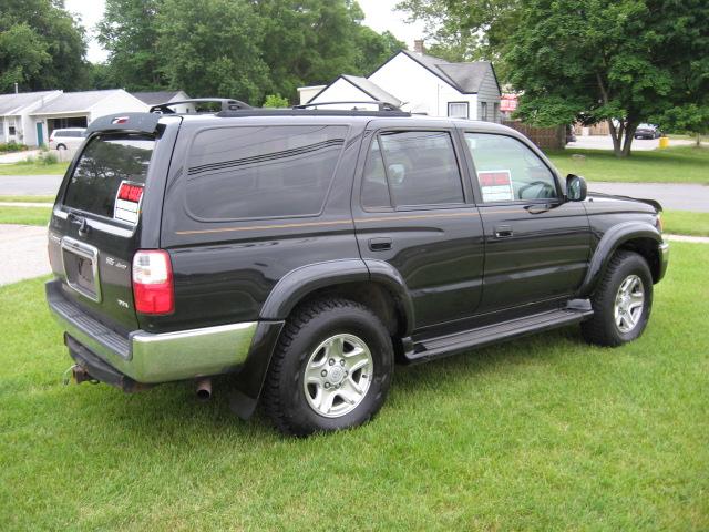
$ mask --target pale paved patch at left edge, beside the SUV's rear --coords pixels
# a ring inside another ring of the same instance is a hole
[[[0,285],[51,272],[47,258],[47,227],[0,225]]]

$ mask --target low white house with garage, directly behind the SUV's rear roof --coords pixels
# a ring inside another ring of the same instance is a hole
[[[24,144],[47,143],[52,131],[62,127],[86,127],[93,120],[120,112],[145,112],[150,105],[123,89],[63,92],[29,113],[34,127],[25,131]]]

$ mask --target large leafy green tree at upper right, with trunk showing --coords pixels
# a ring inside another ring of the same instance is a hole
[[[709,90],[708,28],[702,0],[524,0],[505,58],[524,91],[517,114],[538,125],[606,121],[627,156],[639,123]]]

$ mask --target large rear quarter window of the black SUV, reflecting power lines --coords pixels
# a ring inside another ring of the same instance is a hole
[[[335,125],[204,131],[189,155],[187,207],[206,219],[318,214],[346,136]]]

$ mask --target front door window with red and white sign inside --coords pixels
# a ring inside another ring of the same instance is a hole
[[[465,133],[484,203],[557,198],[552,171],[510,136]]]

